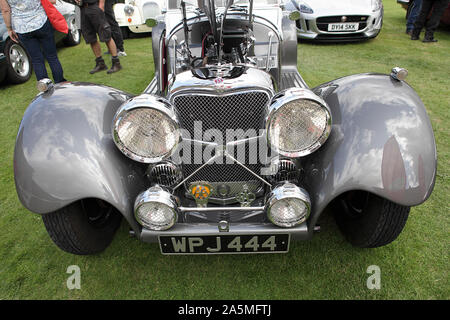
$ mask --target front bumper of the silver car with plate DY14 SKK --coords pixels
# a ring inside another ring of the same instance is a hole
[[[346,17],[367,17],[365,19],[366,22],[360,23],[360,29],[357,31],[331,32],[327,31],[326,22],[320,22],[321,19],[340,18],[342,16],[344,15],[316,16],[314,14],[302,14],[301,18],[296,22],[297,36],[301,39],[314,41],[359,41],[376,37],[383,24],[383,9],[371,14],[347,15]]]

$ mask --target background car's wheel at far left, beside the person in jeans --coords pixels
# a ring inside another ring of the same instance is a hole
[[[7,81],[15,84],[28,81],[33,67],[30,55],[25,47],[21,43],[16,43],[8,38],[4,53],[8,63]]]

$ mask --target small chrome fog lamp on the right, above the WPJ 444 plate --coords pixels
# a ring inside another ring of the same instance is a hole
[[[266,213],[269,220],[283,228],[303,223],[309,216],[311,201],[308,193],[292,183],[285,183],[268,196]]]

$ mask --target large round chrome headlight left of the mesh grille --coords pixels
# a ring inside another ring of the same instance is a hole
[[[149,94],[120,107],[113,120],[113,137],[126,156],[144,163],[169,157],[181,140],[174,108],[167,100]]]

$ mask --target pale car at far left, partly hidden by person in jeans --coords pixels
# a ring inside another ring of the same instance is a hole
[[[80,43],[80,8],[67,2],[57,0],[55,7],[61,12],[69,26],[69,33],[55,31],[56,42],[62,41],[66,46]],[[3,16],[0,15],[0,82],[23,83],[31,77],[31,58],[21,43],[9,38]]]

